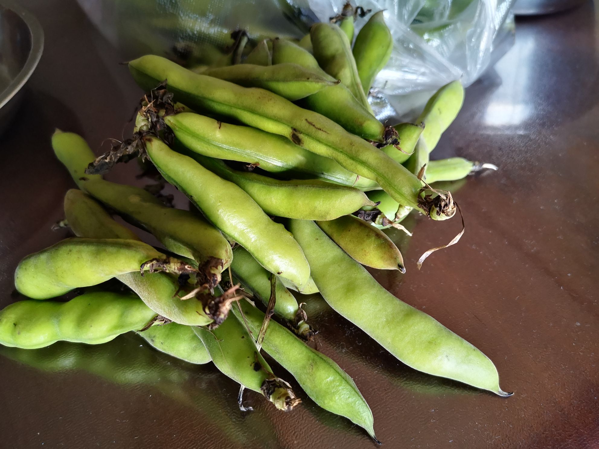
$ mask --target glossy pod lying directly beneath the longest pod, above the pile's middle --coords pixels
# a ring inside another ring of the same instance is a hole
[[[358,189],[377,185],[278,134],[192,113],[175,114],[164,120],[185,147],[204,156],[258,164],[273,173],[301,173]]]

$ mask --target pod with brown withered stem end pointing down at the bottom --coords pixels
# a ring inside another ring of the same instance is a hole
[[[273,375],[252,336],[235,317],[207,330],[193,327],[220,372],[249,390],[262,393],[277,409],[291,411],[298,404],[289,384]]]

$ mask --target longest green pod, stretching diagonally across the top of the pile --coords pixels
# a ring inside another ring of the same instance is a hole
[[[344,35],[343,38],[347,40]],[[299,108],[267,90],[194,74],[159,56],[135,59],[129,62],[129,69],[135,81],[145,89],[152,89],[168,79],[169,89],[177,101],[193,110],[210,110],[263,131],[285,135],[307,150],[331,157],[347,170],[375,181],[396,201],[418,207],[422,183],[415,175],[369,142],[349,134],[320,114]]]

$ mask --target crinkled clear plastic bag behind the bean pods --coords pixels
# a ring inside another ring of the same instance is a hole
[[[513,43],[514,0],[364,0],[394,38],[389,63],[371,90],[380,120],[413,118],[431,92],[476,81]],[[210,63],[231,45],[230,32],[254,40],[301,38],[310,25],[341,12],[344,0],[79,0],[125,57],[156,53]],[[355,0],[352,1],[355,6]],[[356,33],[368,17],[356,19]]]

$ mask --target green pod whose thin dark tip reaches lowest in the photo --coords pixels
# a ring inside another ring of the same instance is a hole
[[[240,323],[258,335],[264,314],[246,301],[233,308]],[[310,398],[329,412],[344,416],[374,436],[373,415],[355,382],[337,363],[306,345],[276,321],[270,321],[262,348],[291,373]]]

